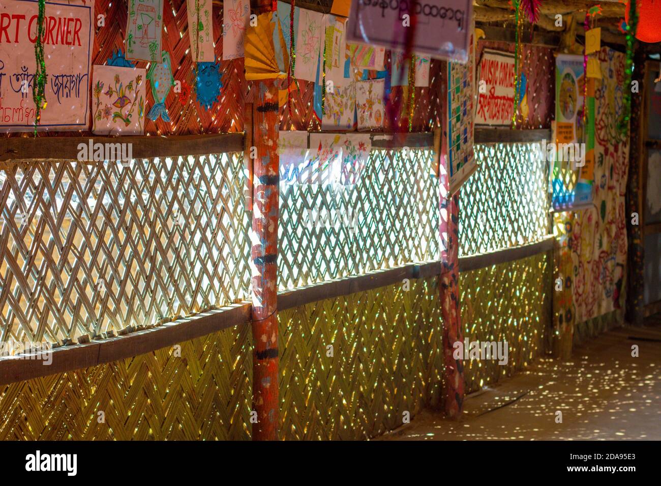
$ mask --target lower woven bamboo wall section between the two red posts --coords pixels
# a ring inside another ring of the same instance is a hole
[[[436,279],[279,313],[284,439],[364,439],[442,398]],[[327,346],[333,356],[327,356]]]

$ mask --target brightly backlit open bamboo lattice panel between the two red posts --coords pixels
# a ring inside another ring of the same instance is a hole
[[[373,150],[355,186],[281,182],[278,287],[438,259],[440,196],[431,166],[430,150],[412,150],[409,159]],[[307,215],[317,214],[315,227]]]

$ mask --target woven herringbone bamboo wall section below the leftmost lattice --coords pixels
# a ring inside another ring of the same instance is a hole
[[[250,438],[245,323],[134,358],[0,387],[0,440]],[[104,422],[100,423],[99,412]]]

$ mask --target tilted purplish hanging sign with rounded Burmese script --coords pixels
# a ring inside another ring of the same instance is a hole
[[[413,52],[465,63],[473,0],[354,0],[346,38],[403,50],[415,24]]]

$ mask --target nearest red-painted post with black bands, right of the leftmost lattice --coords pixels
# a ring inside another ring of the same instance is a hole
[[[277,440],[278,401],[278,89],[255,83],[253,102],[253,440]]]

